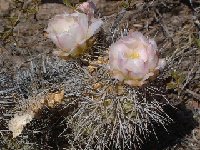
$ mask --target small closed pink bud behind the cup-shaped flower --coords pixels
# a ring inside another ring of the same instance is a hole
[[[89,2],[83,2],[77,7],[77,10],[87,14],[89,18],[94,17],[94,11],[96,9],[95,4],[92,1]]]

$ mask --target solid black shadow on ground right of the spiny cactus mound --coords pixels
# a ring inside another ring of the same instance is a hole
[[[167,127],[166,131],[163,127],[155,127],[157,139],[154,135],[145,143],[142,150],[163,150],[180,144],[181,140],[198,125],[193,118],[193,113],[188,110],[184,104],[179,104],[174,108],[166,108],[166,112],[174,120],[172,124]]]

